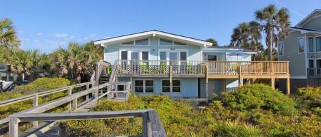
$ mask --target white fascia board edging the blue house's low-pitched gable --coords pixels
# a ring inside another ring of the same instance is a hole
[[[170,34],[170,33],[164,33],[164,32],[160,32],[160,31],[147,31],[147,32],[143,32],[143,33],[136,33],[136,34],[132,34],[132,35],[124,35],[124,36],[120,36],[120,37],[114,37],[114,38],[110,38],[107,40],[99,40],[94,42],[94,44],[103,44],[103,43],[108,43],[108,42],[115,42],[115,41],[120,41],[120,40],[126,40],[129,38],[133,38],[133,37],[141,37],[141,36],[146,36],[146,35],[152,35],[153,37],[155,37],[155,35],[164,35],[167,37],[173,37],[173,38],[177,38],[180,40],[186,40],[189,42],[194,42],[194,43],[198,43],[198,44],[202,44],[204,47],[205,46],[211,46],[211,42],[205,42],[202,40],[195,40],[189,37],[183,37],[183,36],[179,36],[179,35],[174,35],[174,34]]]

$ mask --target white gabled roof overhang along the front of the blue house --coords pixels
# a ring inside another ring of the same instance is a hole
[[[164,31],[157,31],[157,30],[144,31],[144,32],[140,32],[140,33],[122,35],[122,36],[118,36],[118,37],[110,37],[107,39],[94,41],[94,44],[95,45],[101,44],[101,46],[108,46],[110,44],[114,44],[115,42],[121,42],[124,40],[133,40],[133,39],[137,39],[140,37],[142,37],[142,38],[143,37],[164,37],[164,38],[170,38],[172,40],[189,42],[190,44],[195,44],[195,45],[201,46],[201,47],[211,46],[211,44],[212,44],[211,42],[198,40],[198,39],[195,39],[192,37],[185,37],[183,35],[177,35],[177,34],[173,34],[173,33],[167,33]]]

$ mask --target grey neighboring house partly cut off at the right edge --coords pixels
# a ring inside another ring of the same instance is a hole
[[[290,61],[292,90],[321,86],[321,10],[290,27],[290,36],[279,42],[278,55],[280,61]]]

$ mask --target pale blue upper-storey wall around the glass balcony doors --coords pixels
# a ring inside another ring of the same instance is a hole
[[[170,39],[168,39],[170,40]],[[159,46],[158,37],[149,37],[149,46],[124,46],[120,43],[105,46],[104,60],[114,64],[114,62],[120,59],[120,50],[142,50],[149,51],[149,60],[158,60],[159,50],[188,50],[188,60],[190,61],[201,61],[201,47],[188,44],[187,46]]]

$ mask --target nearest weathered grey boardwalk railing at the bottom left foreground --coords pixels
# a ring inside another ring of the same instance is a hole
[[[142,117],[143,137],[166,137],[166,132],[155,110],[123,110],[105,112],[73,112],[16,114],[10,116],[10,137],[18,137],[18,123],[24,121],[57,121],[84,119],[124,119]]]

